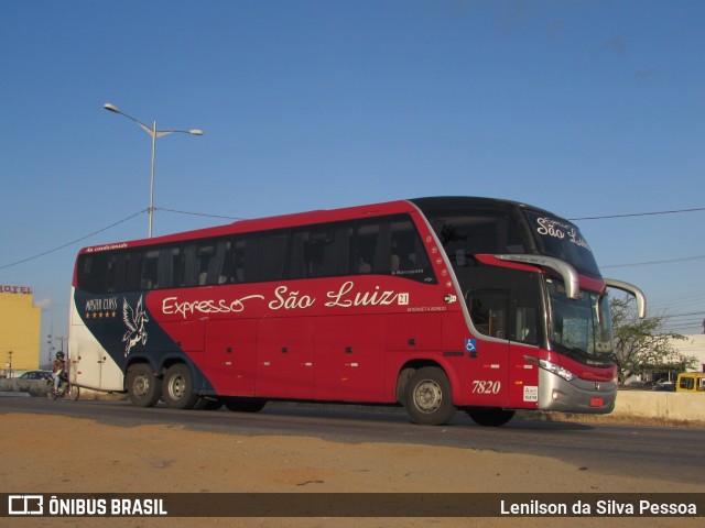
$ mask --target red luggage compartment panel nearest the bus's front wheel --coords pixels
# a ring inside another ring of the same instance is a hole
[[[336,316],[318,324],[316,399],[379,402],[384,382],[384,316]]]

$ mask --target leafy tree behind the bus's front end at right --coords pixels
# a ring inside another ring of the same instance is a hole
[[[695,356],[686,356],[673,346],[684,336],[663,331],[668,316],[637,317],[633,299],[612,297],[610,302],[615,329],[615,355],[620,381],[647,372],[682,372],[692,369]]]

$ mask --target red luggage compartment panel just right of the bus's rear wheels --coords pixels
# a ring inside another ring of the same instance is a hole
[[[205,375],[223,396],[254,396],[257,320],[206,324]]]

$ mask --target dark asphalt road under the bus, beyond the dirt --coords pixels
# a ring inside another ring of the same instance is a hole
[[[270,403],[257,414],[143,409],[124,402],[0,398],[7,413],[64,415],[129,427],[178,425],[226,435],[307,436],[324,440],[395,442],[550,457],[585,471],[705,484],[705,430],[643,426],[527,421],[500,428],[474,425],[458,414],[442,427],[417,426],[401,409]],[[1,422],[1,419],[0,419]]]

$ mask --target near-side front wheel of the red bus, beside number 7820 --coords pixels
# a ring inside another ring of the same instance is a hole
[[[414,372],[405,387],[405,407],[412,420],[424,426],[441,426],[455,415],[451,383],[437,366]]]

